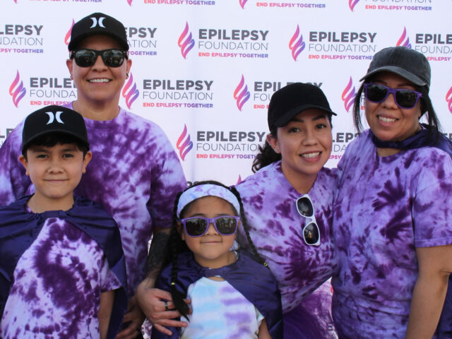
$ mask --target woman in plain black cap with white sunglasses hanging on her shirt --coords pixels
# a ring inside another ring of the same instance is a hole
[[[285,338],[334,338],[328,331],[331,292],[311,295],[336,267],[335,171],[323,167],[331,153],[333,114],[314,85],[293,83],[275,92],[270,134],[253,164],[257,172],[237,185],[251,239],[278,280]]]

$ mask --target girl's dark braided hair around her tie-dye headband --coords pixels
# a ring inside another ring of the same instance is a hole
[[[193,186],[203,185],[203,184],[213,184],[225,187],[225,189],[229,189],[234,196],[237,197],[237,200],[239,201],[240,210],[237,211],[237,214],[239,214],[240,218],[242,219],[242,225],[244,227],[244,231],[246,234],[246,239],[248,239],[249,245],[251,246],[251,250],[254,253],[254,256],[256,256],[256,259],[262,263],[264,266],[268,268],[268,264],[266,261],[263,260],[263,258],[258,254],[256,246],[254,246],[254,243],[251,240],[251,237],[249,235],[249,228],[248,223],[246,221],[246,216],[244,214],[243,209],[243,203],[242,198],[240,198],[240,194],[235,189],[235,187],[228,187],[220,182],[215,182],[213,180],[208,180],[204,182],[197,182]],[[193,187],[191,186],[191,187]],[[191,187],[187,188],[190,189]],[[187,189],[184,189],[186,191]],[[172,301],[174,302],[174,306],[177,308],[177,310],[186,317],[186,319],[189,319],[189,306],[184,302],[184,295],[182,295],[179,290],[176,288],[176,280],[177,280],[177,258],[179,254],[182,254],[183,252],[190,251],[189,247],[186,246],[186,242],[182,240],[181,235],[179,234],[177,230],[177,222],[179,221],[177,218],[177,204],[179,203],[179,198],[184,193],[184,191],[181,191],[177,194],[176,201],[174,201],[174,209],[173,209],[173,218],[172,218],[172,228],[171,232],[169,234],[169,240],[165,249],[165,258],[163,260],[163,267],[167,266],[169,263],[172,263],[172,270],[171,270],[171,297]],[[181,211],[181,216],[184,215],[186,212],[186,209],[191,205],[189,203],[187,206],[184,207],[184,209]]]

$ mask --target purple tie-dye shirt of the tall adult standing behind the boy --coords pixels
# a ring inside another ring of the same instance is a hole
[[[73,108],[72,105],[67,105]],[[184,172],[167,136],[152,121],[120,109],[107,121],[85,119],[93,160],[75,193],[112,215],[121,230],[129,297],[145,275],[153,227],[170,227]],[[23,122],[0,148],[0,205],[34,191],[18,161]]]

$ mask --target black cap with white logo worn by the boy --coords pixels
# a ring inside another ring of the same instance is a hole
[[[22,153],[35,138],[47,133],[63,133],[81,141],[88,150],[90,143],[85,120],[73,109],[57,105],[46,106],[32,112],[25,118],[22,131]]]

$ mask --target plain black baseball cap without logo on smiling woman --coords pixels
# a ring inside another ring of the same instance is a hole
[[[277,90],[268,105],[268,128],[282,127],[297,114],[309,108],[318,108],[335,114],[322,90],[310,83],[291,83]]]

